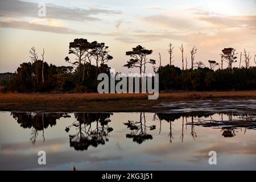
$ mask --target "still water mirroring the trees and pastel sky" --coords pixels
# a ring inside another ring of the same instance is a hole
[[[0,112],[0,169],[256,169],[256,101],[171,102],[163,113]],[[46,151],[45,166],[38,151]],[[216,151],[217,165],[208,162]]]

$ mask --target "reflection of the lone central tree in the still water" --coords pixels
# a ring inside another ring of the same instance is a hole
[[[141,144],[142,142],[153,139],[152,135],[147,134],[147,129],[155,130],[156,126],[146,126],[146,118],[145,113],[139,114],[139,121],[128,121],[127,123],[123,123],[130,129],[132,132],[130,134],[126,134],[126,138],[132,138],[133,142]]]

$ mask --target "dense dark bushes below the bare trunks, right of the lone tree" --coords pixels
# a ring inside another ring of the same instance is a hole
[[[213,71],[209,68],[189,69],[167,65],[159,69],[160,90],[252,90],[256,89],[256,67]]]

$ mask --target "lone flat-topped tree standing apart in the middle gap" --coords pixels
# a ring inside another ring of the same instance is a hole
[[[152,54],[152,50],[146,49],[142,46],[134,47],[132,51],[127,51],[126,56],[130,56],[131,59],[127,61],[127,64],[123,65],[127,68],[139,68],[139,73],[146,72],[146,64],[155,64],[155,60],[148,60],[147,56]]]

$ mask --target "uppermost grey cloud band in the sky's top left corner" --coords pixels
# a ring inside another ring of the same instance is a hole
[[[0,16],[16,16],[16,17],[37,17],[38,3],[22,2],[16,0],[0,1]],[[79,22],[97,21],[100,18],[92,15],[98,14],[121,14],[121,11],[106,9],[80,9],[68,8],[63,6],[46,5],[46,17],[52,19],[75,20]]]

